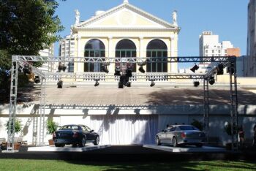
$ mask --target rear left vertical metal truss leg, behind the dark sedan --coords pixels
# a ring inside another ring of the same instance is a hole
[[[44,137],[45,137],[45,78],[42,78],[39,115],[40,115],[40,119],[39,119],[39,144],[38,145],[44,145]]]

